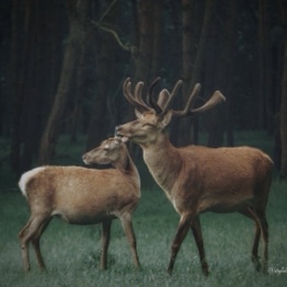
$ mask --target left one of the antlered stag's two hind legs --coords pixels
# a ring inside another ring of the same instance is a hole
[[[256,216],[254,215],[254,211],[249,208],[246,210],[240,211],[240,214],[246,216],[248,218],[252,219],[255,223],[255,236],[254,236],[254,241],[252,245],[252,253],[251,253],[251,260],[255,266],[256,271],[261,269],[261,264],[260,264],[260,257],[259,257],[259,243],[260,243],[260,236],[261,236],[261,227],[259,223],[259,220]]]

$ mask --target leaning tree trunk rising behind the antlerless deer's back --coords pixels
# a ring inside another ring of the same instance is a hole
[[[87,19],[91,4],[89,0],[78,1],[69,5],[70,32],[65,51],[60,80],[55,95],[54,104],[48,117],[45,131],[41,139],[38,163],[49,163],[56,148],[60,131],[61,118],[66,112],[70,87],[74,79],[74,72],[78,68],[79,59],[84,53],[87,43]]]

